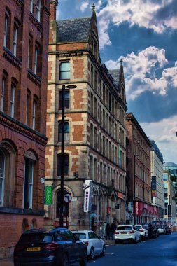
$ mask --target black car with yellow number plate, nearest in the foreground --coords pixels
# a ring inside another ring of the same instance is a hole
[[[87,264],[87,246],[66,228],[24,232],[14,249],[14,266]]]

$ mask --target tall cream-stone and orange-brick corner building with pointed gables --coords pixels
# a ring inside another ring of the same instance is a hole
[[[88,18],[56,21],[57,3],[50,4],[45,184],[53,188],[53,204],[45,206],[45,225],[59,221],[62,86],[72,84],[77,87],[65,89],[64,102],[64,192],[72,197],[64,219],[70,229],[97,230],[113,219],[125,222],[123,67],[108,71],[101,64],[94,5]],[[85,209],[90,181],[92,202]]]

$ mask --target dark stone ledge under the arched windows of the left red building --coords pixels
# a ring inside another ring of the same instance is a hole
[[[0,214],[28,214],[36,216],[44,216],[45,211],[43,210],[34,210],[34,209],[21,209],[15,207],[0,207]]]

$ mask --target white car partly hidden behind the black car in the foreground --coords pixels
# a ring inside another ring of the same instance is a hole
[[[95,232],[90,230],[76,230],[72,232],[86,244],[87,255],[91,260],[94,259],[94,255],[105,255],[106,247],[104,240],[97,236]]]

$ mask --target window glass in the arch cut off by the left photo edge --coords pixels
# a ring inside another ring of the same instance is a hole
[[[4,179],[5,179],[5,155],[3,151],[0,150],[0,206],[3,206]]]

